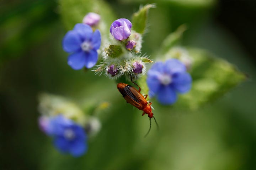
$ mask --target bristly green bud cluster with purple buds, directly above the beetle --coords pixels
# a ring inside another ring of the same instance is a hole
[[[114,21],[110,26],[110,33],[114,39],[105,47],[103,60],[97,73],[105,73],[111,78],[121,76],[134,79],[145,73],[145,63],[152,62],[145,55],[140,55],[142,35],[132,30],[132,23],[126,18]]]

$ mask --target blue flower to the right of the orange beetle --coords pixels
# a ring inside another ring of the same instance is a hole
[[[192,78],[186,67],[177,59],[157,62],[148,71],[146,80],[149,96],[156,96],[161,104],[173,104],[177,100],[177,92],[186,93],[191,89]]]

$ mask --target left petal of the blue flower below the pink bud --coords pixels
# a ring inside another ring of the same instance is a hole
[[[77,32],[69,31],[63,38],[62,46],[66,52],[75,52],[81,49],[81,39]]]

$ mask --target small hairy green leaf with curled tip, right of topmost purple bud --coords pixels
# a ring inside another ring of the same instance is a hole
[[[134,13],[132,16],[132,29],[137,33],[143,34],[146,28],[146,23],[148,20],[148,11],[150,8],[154,8],[155,5],[148,4],[139,9],[138,12]]]

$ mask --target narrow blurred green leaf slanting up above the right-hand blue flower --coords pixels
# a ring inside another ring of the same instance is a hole
[[[181,25],[177,28],[177,30],[171,34],[169,34],[165,40],[162,42],[162,49],[161,52],[165,53],[168,51],[171,47],[175,46],[180,42],[182,38],[182,34],[184,31],[187,30],[187,26],[185,24]]]

